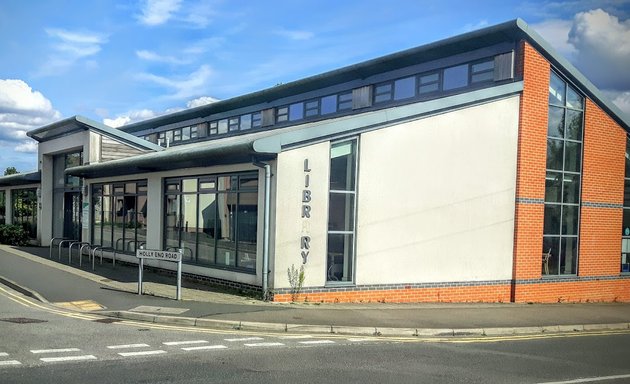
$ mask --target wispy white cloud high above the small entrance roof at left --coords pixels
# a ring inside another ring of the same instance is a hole
[[[107,36],[95,32],[76,32],[65,29],[49,28],[46,34],[52,39],[52,53],[38,71],[40,76],[56,75],[67,71],[75,63],[87,59],[101,51]],[[85,60],[87,68],[98,67],[94,60]]]

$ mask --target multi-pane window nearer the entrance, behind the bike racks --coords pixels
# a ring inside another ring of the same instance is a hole
[[[135,253],[147,239],[147,182],[92,186],[92,244]]]

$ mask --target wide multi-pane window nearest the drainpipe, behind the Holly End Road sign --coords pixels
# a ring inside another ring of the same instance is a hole
[[[258,173],[165,181],[164,248],[184,262],[256,270]]]

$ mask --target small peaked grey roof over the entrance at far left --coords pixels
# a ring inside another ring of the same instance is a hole
[[[136,148],[148,149],[153,151],[161,151],[163,149],[159,145],[153,144],[130,133],[108,127],[105,124],[101,124],[97,121],[88,119],[87,117],[83,116],[73,116],[64,120],[60,120],[41,128],[29,131],[26,133],[26,135],[41,143],[86,130],[98,132],[104,136],[117,139]]]

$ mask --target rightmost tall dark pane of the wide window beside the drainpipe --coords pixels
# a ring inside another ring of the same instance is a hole
[[[258,194],[241,193],[238,201],[238,266],[256,269]]]

